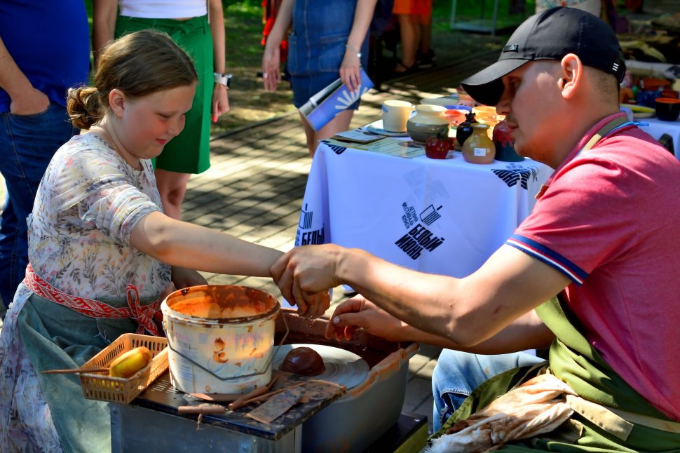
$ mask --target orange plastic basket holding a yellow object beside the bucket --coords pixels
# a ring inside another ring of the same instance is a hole
[[[151,351],[153,358],[149,365],[127,379],[98,373],[81,373],[85,398],[128,404],[168,369],[168,340],[163,337],[139,334],[122,334],[115,342],[88,360],[82,369],[94,370],[108,367],[114,358],[138,346],[147,346]]]

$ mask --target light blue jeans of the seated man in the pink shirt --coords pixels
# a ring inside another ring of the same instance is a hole
[[[442,350],[432,374],[433,430],[436,433],[465,398],[482,382],[504,371],[543,362],[540,357],[517,352],[482,356],[461,351]]]

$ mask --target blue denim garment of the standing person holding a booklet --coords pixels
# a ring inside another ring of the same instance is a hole
[[[339,79],[356,3],[356,0],[295,1],[287,60],[295,107],[301,107],[322,88]],[[361,64],[366,67],[368,34],[361,53]],[[358,108],[359,101],[349,107]]]

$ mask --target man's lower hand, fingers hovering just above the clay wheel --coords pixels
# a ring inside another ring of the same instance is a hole
[[[326,338],[351,340],[360,328],[393,342],[404,339],[400,337],[404,323],[362,295],[337,306],[326,326]]]

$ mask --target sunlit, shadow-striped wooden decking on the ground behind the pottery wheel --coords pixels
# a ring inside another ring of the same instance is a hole
[[[498,53],[484,53],[383,83],[362,98],[353,126],[380,117],[384,100],[417,102],[423,97],[447,94],[450,88],[476,70],[496,60]],[[289,250],[294,243],[302,198],[311,161],[297,113],[250,125],[212,140],[212,166],[189,181],[184,201],[184,220],[227,231],[247,241]],[[208,274],[210,283],[250,285],[280,297],[270,279]],[[334,291],[333,306],[344,300]],[[328,313],[329,314],[329,313]],[[440,349],[421,345],[409,363],[404,412],[428,417],[432,427],[430,379]]]

